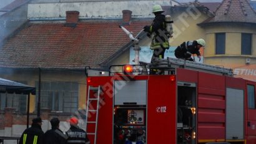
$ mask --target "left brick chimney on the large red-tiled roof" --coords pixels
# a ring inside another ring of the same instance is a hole
[[[79,11],[66,11],[66,24],[68,27],[76,27],[79,20]]]

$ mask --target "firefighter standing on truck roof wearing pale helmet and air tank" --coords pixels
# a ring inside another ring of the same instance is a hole
[[[155,57],[164,59],[165,49],[169,49],[169,37],[165,25],[165,16],[162,14],[164,11],[160,5],[153,6],[152,12],[155,14],[155,19],[151,26],[145,26],[144,31],[147,32],[147,36],[153,36],[150,49],[154,50],[151,63],[154,62]]]

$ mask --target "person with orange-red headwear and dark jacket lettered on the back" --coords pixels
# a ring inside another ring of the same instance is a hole
[[[67,133],[67,143],[68,144],[90,144],[87,134],[84,130],[78,127],[78,119],[72,117],[69,120],[71,128]]]

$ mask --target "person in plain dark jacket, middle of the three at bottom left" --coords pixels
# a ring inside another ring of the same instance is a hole
[[[44,133],[44,144],[66,144],[67,135],[59,129],[59,119],[51,119],[52,129]]]

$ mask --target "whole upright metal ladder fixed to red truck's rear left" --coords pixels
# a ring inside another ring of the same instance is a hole
[[[99,101],[101,96],[101,86],[88,88],[87,108],[86,108],[86,132],[90,137],[94,137],[94,144],[97,140],[97,122],[99,117]]]

